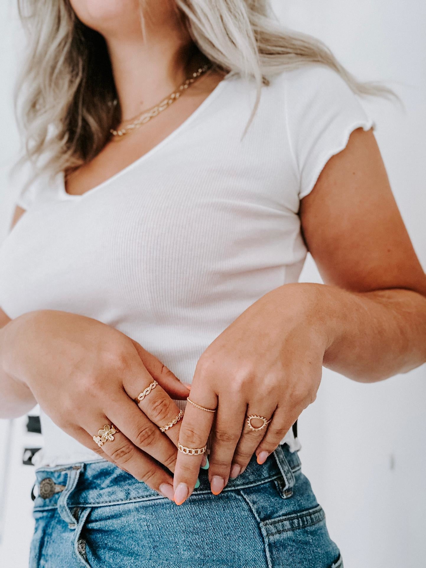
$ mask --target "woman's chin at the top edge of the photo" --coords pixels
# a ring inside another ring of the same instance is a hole
[[[70,0],[78,18],[103,35],[140,34],[139,0]]]

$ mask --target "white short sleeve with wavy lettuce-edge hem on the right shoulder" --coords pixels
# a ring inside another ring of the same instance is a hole
[[[284,84],[286,125],[302,199],[331,156],[346,147],[351,132],[374,129],[376,123],[348,83],[326,65],[292,69]]]

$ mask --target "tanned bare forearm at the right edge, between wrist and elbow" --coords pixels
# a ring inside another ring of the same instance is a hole
[[[315,286],[328,346],[323,365],[359,382],[381,381],[426,362],[426,297],[403,289],[354,293]]]

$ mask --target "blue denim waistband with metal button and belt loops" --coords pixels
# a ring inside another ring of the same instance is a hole
[[[297,452],[290,452],[288,444],[279,445],[267,460],[259,465],[252,456],[246,469],[235,479],[229,479],[223,491],[260,485],[272,479],[284,483],[283,495],[290,496],[294,485],[294,472],[300,469]],[[194,493],[211,492],[208,470],[200,469],[200,486]],[[106,460],[73,463],[66,466],[44,467],[36,470],[39,495],[34,509],[58,508],[62,518],[75,523],[69,507],[102,507],[152,499],[166,499],[146,483]],[[191,497],[190,497],[191,499]]]

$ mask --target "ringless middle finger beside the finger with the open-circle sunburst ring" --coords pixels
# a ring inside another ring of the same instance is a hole
[[[247,403],[243,399],[219,396],[209,456],[209,481],[214,495],[218,495],[228,482],[235,448],[244,428],[246,409]],[[251,455],[255,448],[252,448]]]

